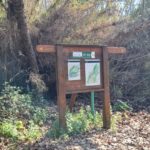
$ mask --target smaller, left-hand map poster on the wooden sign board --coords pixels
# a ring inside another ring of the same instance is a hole
[[[68,80],[80,80],[80,61],[68,60]]]

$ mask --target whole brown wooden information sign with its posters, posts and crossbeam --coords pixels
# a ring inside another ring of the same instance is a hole
[[[77,93],[101,91],[103,98],[103,127],[110,128],[110,92],[108,54],[122,54],[123,47],[98,45],[37,45],[36,50],[56,53],[57,103],[59,123],[66,128],[66,94],[72,94],[72,107]]]

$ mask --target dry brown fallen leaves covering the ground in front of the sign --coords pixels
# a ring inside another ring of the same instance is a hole
[[[122,117],[116,132],[93,129],[67,140],[44,138],[29,147],[31,150],[149,150],[150,114],[127,113]]]

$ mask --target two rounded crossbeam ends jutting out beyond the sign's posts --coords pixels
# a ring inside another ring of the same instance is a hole
[[[124,47],[106,47],[106,48],[107,48],[108,53],[110,54],[126,53],[126,49]],[[37,52],[40,52],[40,53],[56,53],[55,45],[37,45],[36,50]]]

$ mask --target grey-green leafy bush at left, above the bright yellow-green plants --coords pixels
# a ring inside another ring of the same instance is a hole
[[[0,119],[33,120],[43,123],[48,117],[47,110],[35,106],[32,93],[25,94],[18,87],[6,84],[0,95]]]

